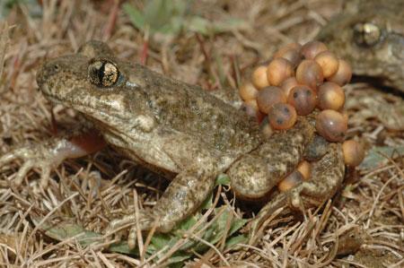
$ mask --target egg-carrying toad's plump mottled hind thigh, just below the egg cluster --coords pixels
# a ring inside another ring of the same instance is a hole
[[[312,125],[300,118],[293,129],[274,134],[257,150],[233,163],[226,173],[235,194],[242,199],[265,196],[297,167],[313,133]]]

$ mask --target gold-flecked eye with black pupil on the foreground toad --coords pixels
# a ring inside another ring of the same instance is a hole
[[[119,80],[117,65],[106,59],[94,60],[88,65],[88,77],[94,85],[108,88]]]

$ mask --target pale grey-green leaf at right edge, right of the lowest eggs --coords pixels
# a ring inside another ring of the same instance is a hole
[[[376,169],[381,167],[385,163],[388,162],[388,159],[384,156],[388,156],[390,158],[402,157],[404,156],[404,146],[380,146],[374,147],[370,151],[368,151],[366,157],[359,165],[360,169]]]

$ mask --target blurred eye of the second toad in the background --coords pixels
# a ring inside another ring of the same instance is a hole
[[[382,31],[371,22],[360,22],[354,26],[354,40],[358,46],[373,47],[382,39]]]

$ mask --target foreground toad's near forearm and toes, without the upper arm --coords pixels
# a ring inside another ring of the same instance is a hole
[[[189,167],[180,172],[165,190],[162,197],[150,212],[140,212],[138,228],[149,230],[155,228],[157,232],[169,232],[181,220],[187,218],[205,201],[215,186],[215,164],[206,162],[202,166]],[[127,215],[123,219],[113,220],[106,231],[106,235],[123,229],[132,223],[127,244],[129,248],[136,246],[136,215]],[[155,225],[155,226],[154,226]]]

